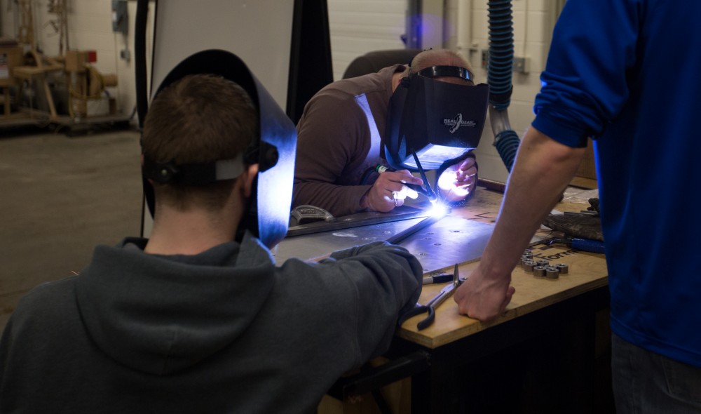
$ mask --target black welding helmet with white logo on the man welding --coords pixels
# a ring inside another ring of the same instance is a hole
[[[392,168],[418,171],[418,158],[423,170],[436,170],[479,144],[489,86],[433,79],[444,76],[472,81],[464,67],[427,67],[402,79],[390,98],[385,156]]]

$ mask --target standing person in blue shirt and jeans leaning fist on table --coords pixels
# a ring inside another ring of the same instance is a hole
[[[470,317],[504,312],[592,138],[619,414],[701,412],[700,19],[697,1],[567,1],[494,234],[455,294]]]

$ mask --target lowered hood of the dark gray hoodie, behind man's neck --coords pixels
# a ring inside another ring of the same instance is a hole
[[[88,335],[134,370],[168,375],[215,354],[250,326],[273,288],[270,252],[250,236],[198,255],[149,255],[146,242],[98,246],[77,283]]]

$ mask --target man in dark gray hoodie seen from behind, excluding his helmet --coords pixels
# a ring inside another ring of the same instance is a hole
[[[0,342],[1,413],[313,413],[386,351],[421,292],[413,255],[380,242],[276,264],[241,232],[256,106],[210,74],[158,92],[142,136],[150,238],[97,246],[81,274],[20,300]],[[213,163],[213,182],[158,182]]]

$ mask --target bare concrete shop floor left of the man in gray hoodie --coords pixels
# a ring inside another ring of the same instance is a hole
[[[139,133],[0,132],[0,329],[22,295],[141,229]]]

